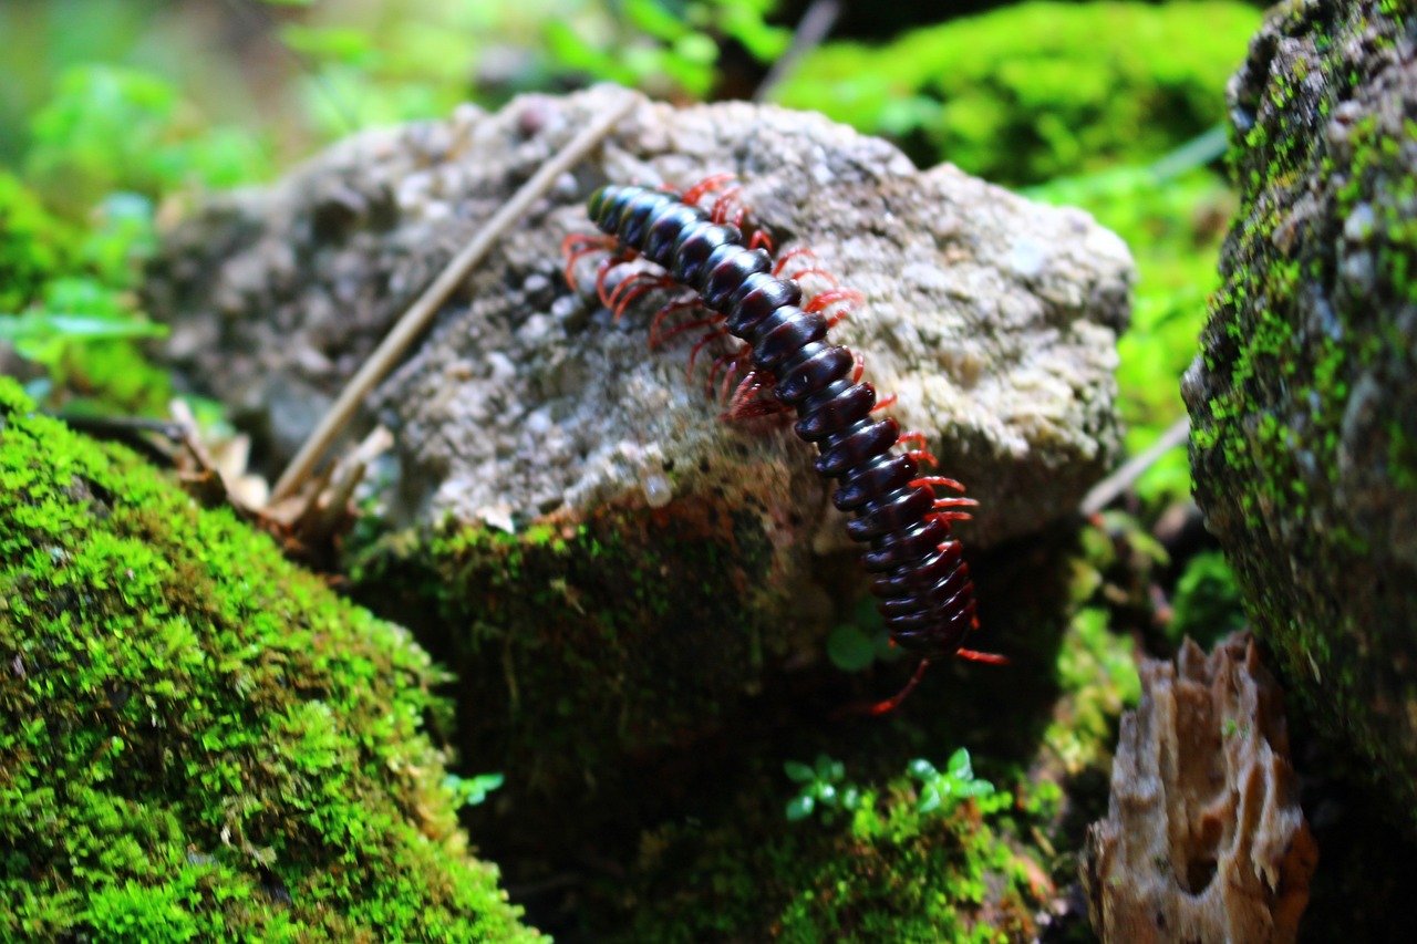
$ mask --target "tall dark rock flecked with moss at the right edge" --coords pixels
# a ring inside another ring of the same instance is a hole
[[[1241,213],[1185,394],[1255,632],[1417,825],[1417,16],[1384,10],[1281,6],[1231,82]]]

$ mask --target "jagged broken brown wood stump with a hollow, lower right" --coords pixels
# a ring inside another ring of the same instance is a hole
[[[1294,941],[1318,849],[1282,693],[1248,634],[1145,661],[1083,880],[1102,941]]]

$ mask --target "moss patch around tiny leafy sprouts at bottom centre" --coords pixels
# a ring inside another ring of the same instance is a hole
[[[1049,883],[1017,841],[1030,819],[1023,804],[993,794],[921,812],[918,790],[910,777],[891,777],[862,790],[854,812],[835,825],[788,824],[784,780],[781,791],[764,784],[761,797],[738,797],[720,825],[653,829],[621,892],[628,927],[597,940],[1032,937]],[[660,894],[670,873],[673,892]]]

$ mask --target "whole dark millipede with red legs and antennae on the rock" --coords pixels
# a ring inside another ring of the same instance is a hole
[[[832,503],[849,516],[846,533],[864,546],[862,564],[891,642],[920,658],[898,695],[866,709],[884,714],[914,690],[932,661],[1003,662],[964,646],[979,619],[964,546],[951,524],[966,520],[966,509],[976,502],[956,495],[964,486],[955,479],[924,473],[927,465],[938,465],[927,438],[904,431],[884,412],[894,395],[877,398],[876,387],[863,380],[863,357],[829,339],[840,318],[833,309],[860,300],[860,293],[830,279],[833,288],[805,299],[803,279],[823,275],[822,269],[808,264],[789,272],[805,254],[775,258],[767,231],[747,221],[740,189],[726,187],[731,181],[730,174],[716,174],[683,193],[638,184],[598,189],[587,203],[598,234],[575,234],[563,244],[567,279],[574,288],[578,259],[604,251],[597,292],[616,319],[652,288],[687,289],[690,299],[666,305],[655,316],[650,342],[704,329],[690,354],[691,376],[700,349],[731,336],[741,347],[710,370],[711,387],[721,369],[724,390],[737,371],[743,374],[724,417],[796,414],[794,432],[816,448],[816,472],[835,483]],[[700,206],[716,191],[708,208]],[[611,289],[609,274],[638,258],[650,268]],[[686,308],[707,315],[663,327]]]

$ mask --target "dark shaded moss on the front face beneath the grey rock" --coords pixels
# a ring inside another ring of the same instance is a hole
[[[615,777],[622,751],[677,744],[761,683],[764,653],[815,629],[752,577],[778,553],[748,512],[683,500],[383,537],[351,575],[370,605],[424,612],[421,638],[468,683],[468,750],[540,788]]]

